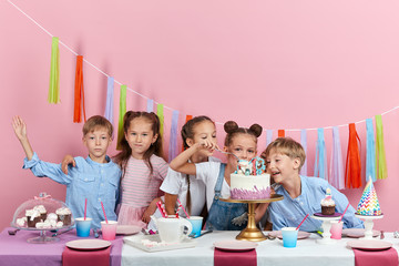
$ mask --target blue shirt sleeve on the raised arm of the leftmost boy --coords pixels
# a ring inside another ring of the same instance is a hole
[[[71,176],[62,172],[61,164],[43,162],[35,152],[33,153],[32,160],[29,161],[27,157],[23,160],[22,168],[30,168],[35,176],[47,176],[63,185],[70,184],[72,180]]]

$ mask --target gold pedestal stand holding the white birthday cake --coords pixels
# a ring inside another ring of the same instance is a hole
[[[232,200],[232,198],[219,198],[223,202],[229,203],[247,203],[248,204],[248,223],[247,227],[244,228],[237,236],[236,239],[238,241],[250,241],[250,242],[262,242],[266,241],[267,237],[264,233],[256,227],[255,223],[255,206],[257,203],[270,203],[270,202],[278,202],[282,201],[284,196],[274,194],[269,198],[262,198],[262,200]]]

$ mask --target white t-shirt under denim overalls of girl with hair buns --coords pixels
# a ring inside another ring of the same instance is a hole
[[[196,178],[201,180],[205,183],[206,186],[206,206],[207,209],[211,209],[213,200],[215,197],[215,185],[221,170],[219,162],[205,162],[195,164],[196,167]],[[223,178],[222,197],[228,198],[229,194],[229,185],[226,180]]]

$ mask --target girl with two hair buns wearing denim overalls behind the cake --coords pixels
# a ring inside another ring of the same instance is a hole
[[[194,164],[188,158],[198,151],[213,152],[219,150],[217,144],[202,140],[182,152],[170,164],[174,171],[195,175],[206,185],[206,204],[208,217],[207,229],[217,231],[241,231],[247,224],[247,204],[228,203],[219,201],[219,197],[229,197],[231,174],[237,168],[237,158],[249,161],[256,156],[257,137],[262,134],[262,126],[253,124],[249,129],[239,127],[236,122],[228,121],[224,124],[227,133],[224,152],[233,153],[227,155],[227,163],[205,162]],[[236,156],[235,156],[236,155]],[[256,223],[266,212],[267,205],[260,204],[256,208]]]

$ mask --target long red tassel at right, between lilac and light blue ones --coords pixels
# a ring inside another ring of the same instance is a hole
[[[350,123],[345,173],[345,185],[347,188],[359,188],[361,186],[361,162],[358,141],[360,143],[360,139],[356,132],[355,123]]]

